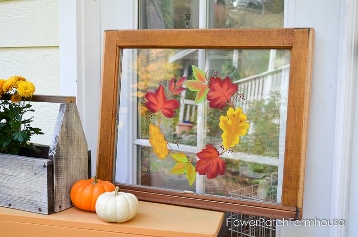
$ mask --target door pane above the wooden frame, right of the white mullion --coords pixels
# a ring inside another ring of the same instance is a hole
[[[283,27],[284,0],[208,0],[207,28]]]

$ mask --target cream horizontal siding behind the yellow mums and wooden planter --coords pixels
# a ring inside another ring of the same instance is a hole
[[[0,78],[23,76],[35,94],[60,93],[58,0],[0,1]],[[59,105],[34,103],[33,126],[45,133],[34,143],[51,143]]]

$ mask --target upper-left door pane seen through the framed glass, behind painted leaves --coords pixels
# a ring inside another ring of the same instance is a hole
[[[162,132],[169,143],[175,143],[176,139],[180,139],[183,145],[196,146],[196,106],[182,104],[177,116],[168,118],[163,114],[148,111],[145,106],[145,93],[154,92],[163,85],[168,95],[169,81],[173,77],[193,79],[190,68],[192,64],[197,65],[198,50],[141,49],[136,52],[137,68],[133,78],[137,78],[137,83],[133,83],[131,88],[137,95],[137,138],[149,139],[149,124],[160,120]],[[171,98],[178,101],[184,98],[186,102],[194,103],[195,93],[186,90]]]

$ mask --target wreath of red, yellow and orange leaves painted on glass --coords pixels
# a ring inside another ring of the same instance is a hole
[[[244,100],[244,95],[238,93],[238,85],[233,84],[229,77],[221,79],[220,77],[211,77],[210,81],[207,78],[207,73],[202,69],[192,65],[194,80],[187,80],[187,77],[182,77],[176,80],[173,77],[167,88],[167,94],[165,94],[165,88],[162,84],[155,90],[155,92],[147,91],[145,98],[147,99],[145,107],[151,112],[161,112],[165,117],[173,118],[175,116],[175,110],[179,108],[180,103],[176,99],[169,99],[170,97],[178,96],[186,88],[195,91],[195,103],[199,103],[207,99],[209,101],[209,107],[213,109],[229,109],[226,111],[226,115],[221,115],[219,118],[219,128],[222,130],[222,146],[218,151],[213,145],[207,144],[200,152],[196,154],[198,160],[196,161],[196,168],[192,163],[192,158],[188,160],[188,157],[184,153],[171,153],[167,149],[167,140],[164,134],[161,132],[161,127],[153,123],[149,124],[149,143],[153,147],[153,153],[159,159],[166,158],[169,154],[176,161],[170,174],[183,175],[189,181],[190,186],[196,179],[196,172],[199,175],[206,175],[208,179],[213,179],[218,175],[225,174],[226,162],[222,158],[225,152],[231,152],[240,142],[240,136],[247,134],[249,129],[248,117],[242,112],[242,108],[236,108],[236,98]],[[187,81],[186,81],[187,80]],[[183,98],[182,98],[183,99]],[[160,115],[158,117],[158,124],[160,124]],[[150,118],[153,116],[148,115]],[[148,117],[147,116],[147,117]],[[156,118],[156,117],[154,117]],[[178,140],[177,140],[178,141]],[[178,146],[178,142],[176,145]]]

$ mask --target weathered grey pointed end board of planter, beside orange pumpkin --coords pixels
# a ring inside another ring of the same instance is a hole
[[[49,158],[53,160],[54,212],[73,206],[72,185],[88,177],[88,149],[76,103],[61,104]]]

